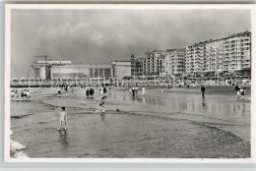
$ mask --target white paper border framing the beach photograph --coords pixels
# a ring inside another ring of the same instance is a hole
[[[5,162],[45,162],[45,163],[255,163],[255,120],[253,115],[256,113],[256,106],[251,105],[251,158],[235,158],[235,159],[210,159],[210,158],[12,158],[10,156],[10,59],[11,59],[11,12],[14,9],[100,9],[100,10],[251,10],[251,42],[252,57],[251,66],[256,66],[254,60],[256,54],[256,5],[255,4],[239,4],[239,5],[170,5],[170,4],[7,4],[5,7],[5,135],[4,135],[4,161]],[[256,69],[253,67],[251,87],[256,85]],[[256,104],[256,91],[251,88],[251,104]]]

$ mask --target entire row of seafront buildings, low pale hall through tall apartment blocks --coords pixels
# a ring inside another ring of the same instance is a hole
[[[71,61],[37,61],[30,67],[33,79],[124,78],[132,76],[202,77],[229,74],[250,76],[251,32],[234,33],[180,49],[144,52],[131,55],[128,61],[101,65],[73,65]]]

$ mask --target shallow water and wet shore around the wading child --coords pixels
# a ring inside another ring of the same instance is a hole
[[[98,93],[56,97],[54,88],[44,89],[31,102],[11,102],[11,116],[24,116],[11,119],[11,139],[30,157],[250,157],[248,99],[147,92],[108,92],[101,116]],[[67,107],[67,132],[56,131],[59,106]]]

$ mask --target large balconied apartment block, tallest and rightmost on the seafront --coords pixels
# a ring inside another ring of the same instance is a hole
[[[251,32],[234,33],[185,47],[187,75],[247,72],[251,70]]]

